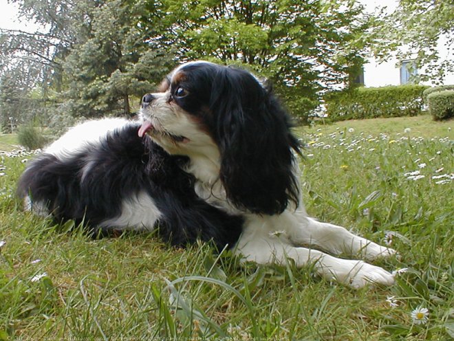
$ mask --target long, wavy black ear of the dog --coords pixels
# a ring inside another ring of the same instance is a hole
[[[220,179],[237,208],[279,214],[299,201],[294,175],[298,140],[287,113],[249,72],[218,69],[210,100],[221,151]]]

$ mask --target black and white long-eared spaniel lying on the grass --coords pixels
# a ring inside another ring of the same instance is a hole
[[[291,128],[250,72],[184,63],[142,98],[138,120],[85,122],[48,146],[18,193],[27,210],[93,234],[158,228],[173,245],[201,239],[246,261],[312,265],[355,289],[392,285],[393,274],[366,261],[396,251],[307,216]]]

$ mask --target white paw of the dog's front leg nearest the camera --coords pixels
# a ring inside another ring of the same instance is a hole
[[[354,289],[366,285],[393,285],[394,276],[381,267],[363,261],[345,261],[344,264],[333,271],[336,281]]]

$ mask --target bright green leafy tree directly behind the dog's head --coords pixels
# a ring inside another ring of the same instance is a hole
[[[165,0],[166,39],[182,61],[245,65],[270,78],[307,118],[323,92],[351,85],[363,65],[366,21],[356,1]]]

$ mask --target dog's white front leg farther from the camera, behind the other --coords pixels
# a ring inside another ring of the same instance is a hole
[[[310,217],[300,217],[298,220],[299,227],[292,224],[288,231],[290,240],[296,244],[316,245],[332,254],[350,254],[367,260],[396,254],[395,250],[356,236],[343,227],[321,223]]]

